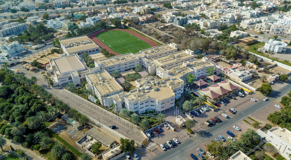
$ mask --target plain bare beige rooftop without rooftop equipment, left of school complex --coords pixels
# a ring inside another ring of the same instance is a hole
[[[81,61],[75,55],[60,57],[60,58],[54,59],[53,61],[60,73],[85,68],[85,66],[81,63]]]

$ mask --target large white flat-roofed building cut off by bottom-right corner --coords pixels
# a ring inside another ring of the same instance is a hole
[[[285,159],[290,160],[291,153],[291,132],[286,128],[273,127],[268,130],[266,141],[277,148],[279,154]]]

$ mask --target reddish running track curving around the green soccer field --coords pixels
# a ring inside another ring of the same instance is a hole
[[[90,35],[88,35],[88,37],[93,40],[93,42],[95,42],[97,45],[99,45],[100,48],[106,48],[107,51],[109,51],[109,53],[113,53],[115,54],[116,56],[120,55],[118,53],[115,53],[114,51],[112,51],[109,47],[107,47],[103,42],[101,42],[99,39],[96,38],[96,35],[99,34],[99,33],[102,33],[102,32],[106,32],[106,31],[124,31],[124,32],[127,32],[141,40],[143,40],[144,42],[147,42],[148,44],[151,45],[151,47],[155,47],[155,46],[158,46],[155,42],[135,33],[134,31],[129,31],[129,30],[126,30],[126,29],[107,29],[107,30],[101,30],[101,31],[98,31],[98,32],[95,32],[95,33],[92,33]]]

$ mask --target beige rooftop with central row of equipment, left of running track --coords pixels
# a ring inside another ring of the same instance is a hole
[[[79,36],[75,38],[68,38],[60,40],[60,42],[65,46],[66,50],[69,53],[84,51],[88,49],[98,48],[93,41],[91,41],[87,36]],[[69,47],[66,47],[69,45]]]

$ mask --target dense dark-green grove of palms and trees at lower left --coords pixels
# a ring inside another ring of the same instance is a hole
[[[65,113],[69,113],[70,117],[85,126],[89,124],[86,115],[58,100],[42,86],[38,86],[36,77],[28,78],[1,68],[0,81],[4,82],[0,87],[0,115],[12,123],[12,125],[0,124],[1,135],[5,135],[6,139],[13,139],[16,143],[23,143],[23,147],[48,150],[52,156],[62,160],[71,159],[74,153],[80,156],[81,160],[92,159],[87,153],[81,155],[73,148],[66,150],[68,147],[66,142],[52,141],[51,135],[55,133],[51,130],[47,132],[45,129],[49,125],[48,121],[54,121]],[[49,103],[52,105],[49,106]],[[0,136],[0,147],[5,142],[6,140]]]

